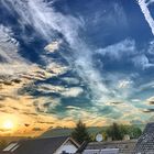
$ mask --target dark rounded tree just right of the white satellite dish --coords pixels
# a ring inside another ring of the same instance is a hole
[[[121,130],[121,127],[117,123],[113,123],[107,129],[108,136],[112,138],[112,140],[122,140],[124,136],[123,131]]]

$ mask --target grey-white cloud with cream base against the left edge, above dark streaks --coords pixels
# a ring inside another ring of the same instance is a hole
[[[0,25],[0,75],[14,75],[29,72],[31,63],[19,55],[19,42],[13,38],[11,29]]]

